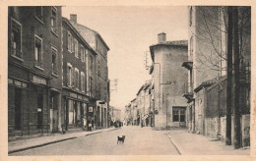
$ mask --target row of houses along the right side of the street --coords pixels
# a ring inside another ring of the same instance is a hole
[[[225,140],[225,131],[229,128],[225,126],[226,96],[233,95],[226,91],[227,7],[191,6],[188,13],[188,40],[166,41],[166,34],[162,32],[158,35],[159,42],[150,46],[153,62],[150,67],[150,106],[148,108],[140,97],[140,93],[143,93],[146,98],[145,92],[141,92],[146,88],[146,83],[136,99],[126,106],[126,120],[138,125],[146,116],[151,118],[151,125],[155,129],[186,127],[190,133]],[[239,126],[241,145],[247,146],[250,144],[250,7],[238,7],[237,20]],[[133,106],[133,102],[136,105]],[[232,144],[233,115],[232,109]]]

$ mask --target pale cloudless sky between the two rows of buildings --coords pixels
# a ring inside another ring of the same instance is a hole
[[[62,15],[70,19],[77,14],[78,24],[90,27],[101,35],[110,50],[107,53],[108,78],[117,91],[110,92],[110,105],[123,109],[146,80],[145,53],[158,43],[158,33],[166,40],[188,39],[186,6],[66,6]],[[148,55],[151,65],[151,56]]]

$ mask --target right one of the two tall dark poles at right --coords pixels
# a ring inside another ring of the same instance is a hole
[[[239,39],[238,9],[233,7],[233,58],[234,58],[234,148],[240,147],[240,106],[239,106]]]

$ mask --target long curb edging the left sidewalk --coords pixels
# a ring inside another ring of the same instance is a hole
[[[105,132],[110,132],[110,131],[115,131],[115,130],[118,130],[118,129],[108,130],[108,131],[105,131]],[[12,153],[15,153],[15,152],[24,151],[24,150],[28,150],[28,149],[32,149],[32,148],[36,148],[36,147],[41,147],[41,146],[45,146],[45,145],[48,145],[48,144],[69,140],[69,139],[75,139],[75,138],[79,138],[79,137],[82,137],[82,136],[88,136],[88,135],[100,134],[100,133],[103,133],[103,132],[101,131],[101,132],[96,132],[96,133],[86,134],[86,135],[81,135],[81,136],[71,136],[71,137],[67,137],[67,138],[63,138],[63,139],[57,139],[57,140],[53,140],[53,141],[49,141],[49,142],[45,142],[45,143],[41,143],[41,144],[37,144],[37,145],[32,145],[32,146],[23,147],[23,148],[19,148],[19,149],[15,149],[15,150],[10,150],[10,151],[8,151],[8,154],[12,154]]]

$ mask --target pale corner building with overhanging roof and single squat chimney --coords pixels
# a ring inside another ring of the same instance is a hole
[[[187,40],[166,41],[165,33],[158,36],[159,43],[150,46],[155,128],[185,127],[187,101],[182,94],[187,71],[181,65],[187,57]]]

